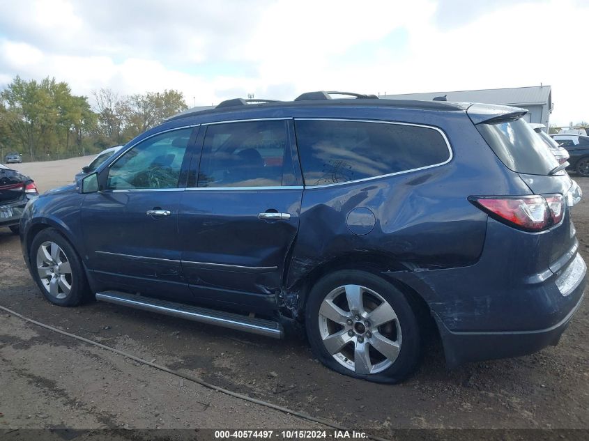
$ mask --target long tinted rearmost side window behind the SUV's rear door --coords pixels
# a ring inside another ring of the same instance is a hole
[[[441,164],[450,158],[440,132],[357,121],[296,121],[306,185],[345,183]]]

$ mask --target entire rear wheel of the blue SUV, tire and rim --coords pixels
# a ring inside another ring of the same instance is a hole
[[[309,293],[305,321],[316,357],[344,375],[395,383],[418,363],[420,329],[411,304],[374,274],[323,277]]]

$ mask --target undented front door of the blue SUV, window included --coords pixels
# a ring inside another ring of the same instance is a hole
[[[192,132],[181,128],[140,141],[102,171],[106,189],[86,195],[86,264],[109,289],[191,297],[180,263],[178,206]]]

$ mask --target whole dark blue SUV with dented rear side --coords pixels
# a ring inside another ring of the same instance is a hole
[[[586,285],[580,195],[526,110],[334,94],[183,114],[29,203],[40,291],[304,326],[323,364],[376,382],[415,369],[431,323],[450,367],[556,345]]]

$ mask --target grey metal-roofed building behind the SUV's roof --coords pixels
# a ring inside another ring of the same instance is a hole
[[[548,127],[552,111],[551,86],[530,86],[512,88],[491,88],[477,91],[404,93],[401,95],[380,95],[389,100],[433,100],[436,96],[444,96],[454,102],[484,102],[528,109],[524,116],[529,123],[541,123]]]

